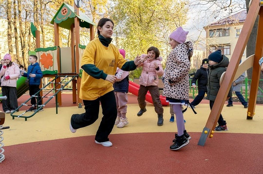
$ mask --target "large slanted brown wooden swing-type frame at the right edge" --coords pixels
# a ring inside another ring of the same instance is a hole
[[[249,104],[247,109],[247,120],[253,119],[255,115],[256,99],[259,87],[259,79],[261,68],[259,65],[259,60],[263,56],[263,0],[250,0],[250,7],[244,21],[243,29],[240,33],[239,39],[237,41],[236,47],[234,49],[232,58],[226,69],[225,75],[221,77],[222,84],[219,89],[218,95],[215,99],[214,107],[212,108],[207,124],[204,127],[201,137],[199,139],[198,145],[205,145],[207,137],[212,138],[214,133],[214,128],[216,127],[217,121],[219,119],[220,113],[225,104],[225,100],[230,90],[231,84],[236,77],[240,76],[244,71],[253,67]],[[256,41],[255,55],[250,56],[246,59],[239,67],[240,60],[242,58],[244,48],[249,39],[250,33],[254,26],[257,16],[259,15],[258,33]]]

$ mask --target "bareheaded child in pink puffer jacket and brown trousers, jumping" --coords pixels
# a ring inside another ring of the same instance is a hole
[[[138,91],[138,102],[140,111],[137,113],[137,116],[141,116],[144,112],[146,112],[146,94],[149,91],[153,105],[154,110],[158,115],[158,126],[162,126],[164,123],[163,119],[163,106],[160,101],[160,93],[159,93],[159,87],[158,77],[162,77],[164,74],[164,69],[162,67],[162,57],[160,56],[160,51],[157,47],[150,47],[147,50],[147,55],[143,54],[141,55],[141,59],[143,60],[143,63],[139,66],[142,66],[142,73],[140,76],[140,89]]]

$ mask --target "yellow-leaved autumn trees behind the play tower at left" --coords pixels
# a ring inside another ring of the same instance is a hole
[[[62,3],[74,6],[74,0],[0,0],[0,17],[6,20],[8,50],[18,64],[28,66],[28,51],[35,50],[36,40],[30,31],[33,24],[40,31],[40,47],[54,46],[54,26],[50,24]],[[106,16],[109,4],[107,0],[83,0],[79,10],[89,16],[95,23]],[[59,29],[60,47],[70,46],[70,31]],[[90,40],[89,33],[81,29],[80,34]]]

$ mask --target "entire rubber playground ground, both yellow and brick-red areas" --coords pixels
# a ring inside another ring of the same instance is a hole
[[[19,104],[28,98],[28,93],[22,95]],[[84,112],[84,107],[79,109],[72,103],[71,93],[62,93],[57,114],[55,99],[27,121],[13,120],[6,114],[3,126],[10,128],[2,129],[5,160],[0,163],[0,174],[263,173],[263,105],[256,106],[253,120],[246,120],[247,110],[238,102],[224,107],[222,115],[229,130],[215,132],[205,146],[200,146],[197,143],[210,113],[208,101],[203,100],[196,106],[197,114],[190,109],[184,113],[192,137],[189,144],[172,151],[169,146],[176,123],[169,122],[169,106],[164,107],[164,125],[158,127],[152,104],[148,103],[147,112],[138,117],[136,96],[129,94],[128,100],[129,125],[113,128],[109,136],[112,147],[94,142],[101,111],[93,125],[70,132],[71,115]]]

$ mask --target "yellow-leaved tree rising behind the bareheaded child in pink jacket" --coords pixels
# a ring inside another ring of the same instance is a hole
[[[157,47],[163,65],[170,52],[169,34],[183,26],[188,18],[188,0],[112,0],[110,16],[115,22],[117,47],[126,50],[127,57],[146,54],[150,46]],[[140,69],[130,78],[138,78]]]

